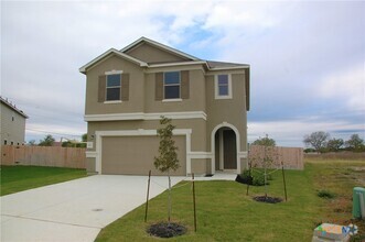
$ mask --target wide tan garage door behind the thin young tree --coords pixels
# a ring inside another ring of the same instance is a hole
[[[154,168],[158,156],[158,136],[107,136],[103,138],[101,174],[162,175]],[[185,136],[174,136],[181,167],[172,175],[186,175]]]

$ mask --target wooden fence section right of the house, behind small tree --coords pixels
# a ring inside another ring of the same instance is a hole
[[[303,148],[301,147],[279,147],[279,146],[268,146],[262,145],[250,145],[249,147],[249,162],[251,162],[253,167],[264,167],[262,161],[265,154],[272,160],[269,164],[269,168],[281,167],[281,162],[286,169],[303,169]]]

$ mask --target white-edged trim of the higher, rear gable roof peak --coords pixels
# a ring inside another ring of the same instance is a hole
[[[141,45],[143,43],[148,43],[148,44],[150,44],[150,45],[152,45],[152,46],[154,46],[157,48],[160,48],[162,51],[169,52],[169,53],[171,53],[173,55],[176,55],[179,57],[186,58],[187,61],[202,61],[202,59],[200,59],[200,58],[197,58],[195,56],[189,55],[189,54],[186,54],[184,52],[181,52],[181,51],[175,50],[173,47],[170,47],[168,45],[161,44],[159,42],[152,41],[152,40],[147,38],[144,36],[142,36],[142,37],[138,38],[137,41],[135,41],[133,43],[127,45],[126,47],[124,47],[122,50],[120,50],[120,52],[126,53],[126,52],[128,52],[128,51],[130,51],[132,48],[138,47],[139,45]]]

